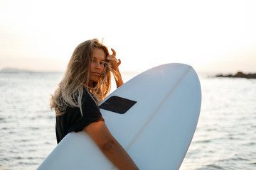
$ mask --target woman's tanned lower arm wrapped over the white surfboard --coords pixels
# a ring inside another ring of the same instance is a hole
[[[85,131],[92,137],[103,154],[117,166],[118,169],[138,169],[124,148],[114,139],[103,121],[90,123]]]

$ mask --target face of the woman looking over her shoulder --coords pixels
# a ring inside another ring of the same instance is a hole
[[[92,62],[90,63],[90,82],[97,82],[102,77],[105,69],[105,53],[102,49],[94,48],[92,50]]]

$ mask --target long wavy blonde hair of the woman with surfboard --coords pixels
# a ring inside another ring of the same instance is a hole
[[[105,69],[100,80],[89,84],[93,48],[102,49],[105,52],[105,57],[110,55],[107,47],[97,39],[82,42],[75,48],[64,77],[50,98],[50,109],[54,109],[56,115],[63,115],[68,106],[80,108],[82,114],[84,89],[90,92],[88,94],[92,94],[96,103],[100,103],[110,93],[112,69],[109,62],[105,62]]]

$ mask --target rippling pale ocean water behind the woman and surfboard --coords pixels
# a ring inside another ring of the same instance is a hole
[[[0,72],[0,169],[36,169],[55,148],[49,98],[62,77]],[[256,79],[199,78],[201,115],[180,169],[256,169]]]

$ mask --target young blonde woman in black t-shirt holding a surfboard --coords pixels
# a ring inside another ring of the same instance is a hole
[[[85,130],[117,168],[138,169],[110,134],[97,106],[110,92],[111,72],[117,88],[123,84],[119,72],[121,60],[112,52],[110,55],[97,39],[82,42],[75,48],[65,75],[50,99],[50,108],[56,113],[57,142],[69,132]]]

